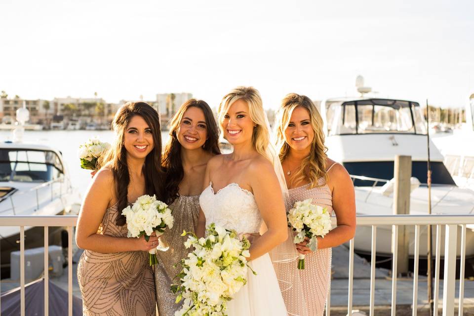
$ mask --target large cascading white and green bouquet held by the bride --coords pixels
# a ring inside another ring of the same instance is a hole
[[[179,284],[171,285],[171,291],[177,294],[176,303],[184,298],[175,316],[225,316],[226,302],[247,282],[248,239],[240,240],[235,231],[214,223],[206,232],[207,237],[199,239],[186,231],[181,235],[190,235],[184,244],[194,250],[181,260],[183,270],[176,276]]]

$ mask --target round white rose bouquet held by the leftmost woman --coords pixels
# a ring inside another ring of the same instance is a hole
[[[155,232],[161,236],[166,228],[173,228],[173,215],[168,205],[157,200],[155,196],[148,195],[137,198],[131,206],[122,210],[127,222],[127,237],[141,237],[145,235],[145,240]],[[148,250],[150,253],[150,266],[158,263],[157,249]]]

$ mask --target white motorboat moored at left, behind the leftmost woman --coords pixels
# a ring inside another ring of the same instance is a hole
[[[61,153],[49,146],[22,142],[28,116],[27,109],[19,109],[15,141],[0,143],[0,215],[76,215],[80,197],[71,185]],[[63,231],[50,227],[49,244],[61,244]],[[19,232],[19,227],[0,228],[2,276],[9,271],[10,252],[20,249]],[[25,227],[25,249],[42,247],[43,240],[42,228]]]

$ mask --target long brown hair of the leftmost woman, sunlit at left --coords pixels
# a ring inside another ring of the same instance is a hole
[[[115,144],[101,161],[102,166],[110,168],[114,174],[117,207],[119,210],[128,205],[128,185],[130,174],[127,166],[127,151],[123,144],[125,129],[134,116],[142,117],[150,127],[153,135],[153,150],[145,158],[143,173],[145,175],[145,194],[157,195],[161,199],[165,175],[161,167],[161,134],[158,112],[145,102],[127,102],[115,114],[112,128],[117,134]],[[119,215],[116,224],[125,224],[125,216]]]

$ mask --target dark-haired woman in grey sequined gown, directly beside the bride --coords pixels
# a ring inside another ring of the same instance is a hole
[[[171,203],[173,229],[160,238],[169,245],[158,251],[155,284],[159,316],[174,316],[181,308],[170,285],[181,267],[174,266],[188,255],[184,247],[187,237],[183,230],[194,232],[199,215],[199,195],[202,191],[207,161],[219,150],[219,129],[210,107],[202,100],[186,101],[171,119],[169,141],[165,146],[163,166],[166,169],[166,202]]]

